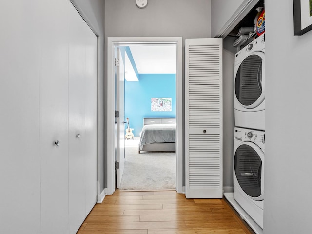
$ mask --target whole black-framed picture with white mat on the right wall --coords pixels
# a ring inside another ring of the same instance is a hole
[[[293,0],[294,35],[302,35],[312,29],[312,0]]]

